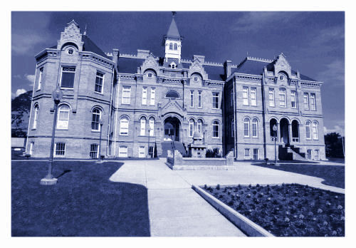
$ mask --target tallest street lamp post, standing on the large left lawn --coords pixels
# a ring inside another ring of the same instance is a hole
[[[53,91],[52,97],[54,100],[54,117],[53,117],[53,128],[52,128],[52,139],[51,139],[51,151],[48,160],[48,173],[46,177],[41,179],[41,185],[55,185],[57,183],[57,178],[54,178],[52,175],[52,167],[53,167],[53,148],[54,148],[54,135],[56,133],[56,120],[57,120],[57,110],[58,104],[61,102],[63,97],[63,93],[61,88],[57,87],[56,90]]]

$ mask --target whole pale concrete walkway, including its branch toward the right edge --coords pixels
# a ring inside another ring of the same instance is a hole
[[[125,160],[110,180],[147,187],[151,236],[201,237],[244,236],[211,207],[192,185],[248,185],[299,183],[323,190],[345,193],[323,185],[323,179],[236,162],[236,170],[171,170],[159,160]]]

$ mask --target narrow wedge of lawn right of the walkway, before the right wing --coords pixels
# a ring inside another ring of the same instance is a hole
[[[295,172],[312,177],[323,178],[324,185],[341,187],[345,189],[345,166],[339,165],[303,165],[303,164],[281,164],[281,165],[266,165],[266,163],[254,163],[261,167],[266,167],[275,170],[283,170]]]

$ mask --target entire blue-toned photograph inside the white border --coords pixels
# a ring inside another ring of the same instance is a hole
[[[12,11],[12,237],[345,237],[345,12]]]

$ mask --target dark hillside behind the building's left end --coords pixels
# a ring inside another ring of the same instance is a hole
[[[11,100],[11,137],[25,138],[30,118],[32,91]]]

